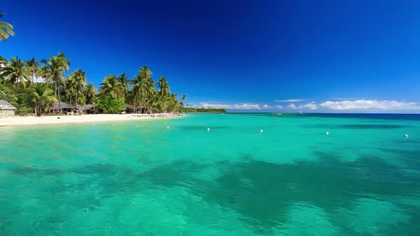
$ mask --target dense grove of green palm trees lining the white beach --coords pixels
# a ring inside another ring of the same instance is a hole
[[[107,75],[99,92],[93,83],[88,83],[84,70],[70,72],[70,66],[64,52],[41,61],[35,58],[23,61],[19,57],[8,60],[0,56],[0,99],[15,106],[17,115],[41,115],[50,108],[61,113],[61,102],[75,107],[91,104],[95,111],[105,113],[118,113],[126,108],[135,113],[184,111],[178,95],[171,94],[166,77],[153,81],[147,66],[141,67],[133,79],[125,73]],[[185,99],[187,95],[182,95],[182,101]],[[57,106],[53,106],[56,102]]]

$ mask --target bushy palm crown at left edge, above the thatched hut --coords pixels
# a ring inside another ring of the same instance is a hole
[[[26,81],[30,81],[30,68],[26,67],[25,63],[19,57],[10,57],[10,63],[6,67],[1,68],[2,75],[8,78],[10,83],[22,83],[23,88],[26,88]]]

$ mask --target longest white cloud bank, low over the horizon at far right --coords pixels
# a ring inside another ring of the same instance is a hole
[[[320,104],[329,110],[366,110],[366,111],[401,111],[420,110],[420,104],[415,102],[395,100],[354,100],[354,101],[325,101]]]

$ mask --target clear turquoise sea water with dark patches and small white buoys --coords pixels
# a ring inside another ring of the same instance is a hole
[[[3,127],[0,209],[0,235],[420,235],[420,116]]]

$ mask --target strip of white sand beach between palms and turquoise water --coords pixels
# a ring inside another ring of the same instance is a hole
[[[80,124],[106,121],[141,121],[149,119],[169,119],[183,117],[183,114],[156,113],[156,114],[95,114],[95,115],[54,115],[44,117],[0,117],[0,128],[10,126],[33,126],[54,124]]]

